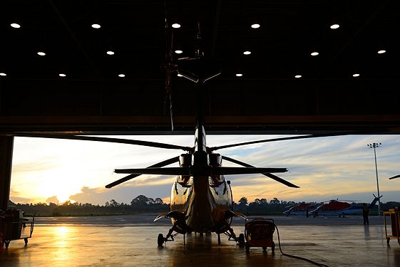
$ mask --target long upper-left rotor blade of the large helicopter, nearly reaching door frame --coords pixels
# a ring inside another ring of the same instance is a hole
[[[113,142],[120,144],[129,145],[143,145],[145,147],[159,147],[166,148],[170,150],[184,150],[190,151],[191,147],[183,147],[180,145],[170,145],[159,142],[149,142],[142,140],[130,140],[122,138],[111,138],[111,137],[94,137],[94,136],[84,136],[84,135],[65,135],[65,134],[41,134],[41,133],[16,133],[14,136],[19,137],[40,137],[40,138],[53,138],[53,139],[65,139],[65,140],[86,140],[86,141],[98,141],[98,142]]]

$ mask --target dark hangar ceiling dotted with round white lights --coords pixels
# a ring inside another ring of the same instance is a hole
[[[207,132],[399,133],[399,28],[399,1],[4,1],[0,132],[191,133],[201,90]]]

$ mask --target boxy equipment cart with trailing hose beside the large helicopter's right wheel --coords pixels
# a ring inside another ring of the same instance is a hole
[[[267,251],[267,247],[270,247],[272,253],[274,253],[274,231],[275,223],[273,219],[259,217],[247,221],[245,224],[246,251],[249,251],[250,247],[257,246],[262,247],[263,251]]]

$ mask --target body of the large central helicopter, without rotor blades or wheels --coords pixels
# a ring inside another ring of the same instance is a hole
[[[200,97],[201,98],[201,97]],[[200,102],[201,103],[201,102]],[[220,154],[207,151],[202,105],[198,105],[193,154],[180,155],[180,167],[220,167]],[[173,224],[183,232],[222,233],[232,221],[232,189],[223,175],[177,177],[171,189],[170,212]]]

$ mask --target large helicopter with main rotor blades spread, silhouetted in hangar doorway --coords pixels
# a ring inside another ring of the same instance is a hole
[[[198,99],[201,90],[198,90]],[[154,221],[161,218],[171,220],[173,226],[166,236],[158,234],[158,246],[163,246],[167,241],[174,241],[174,237],[178,234],[199,233],[209,234],[214,232],[218,236],[218,244],[220,244],[220,234],[228,236],[228,240],[236,241],[237,244],[245,244],[245,236],[240,234],[236,236],[232,227],[233,217],[242,217],[247,219],[244,214],[233,210],[233,197],[230,181],[225,179],[225,175],[235,174],[263,174],[265,177],[280,182],[287,187],[299,188],[296,184],[292,184],[274,173],[287,172],[287,168],[274,167],[255,167],[251,164],[241,162],[231,157],[226,157],[217,153],[230,147],[238,147],[243,145],[252,145],[264,142],[277,142],[282,140],[297,140],[304,138],[324,137],[328,134],[319,135],[298,135],[289,137],[278,137],[265,140],[255,140],[249,142],[240,142],[230,145],[221,145],[217,147],[207,147],[205,132],[205,117],[202,112],[202,105],[198,103],[198,114],[196,117],[196,127],[194,134],[195,145],[193,147],[185,147],[182,145],[172,145],[161,142],[150,142],[143,140],[130,140],[113,137],[98,137],[88,135],[73,135],[66,133],[16,133],[14,136],[19,137],[41,137],[56,138],[63,140],[88,140],[98,142],[113,142],[127,145],[140,145],[145,147],[158,147],[168,150],[183,150],[185,153],[177,157],[165,159],[162,162],[150,165],[146,168],[135,169],[115,169],[118,174],[128,174],[110,184],[106,184],[106,188],[116,187],[123,182],[139,177],[141,174],[158,174],[175,176],[175,182],[171,187],[170,208],[169,211],[159,214]],[[332,133],[331,135],[337,135]],[[342,135],[344,135],[342,133]],[[242,167],[223,167],[222,160],[238,164]],[[179,163],[180,167],[167,167],[170,164]],[[185,238],[184,238],[185,239]]]

